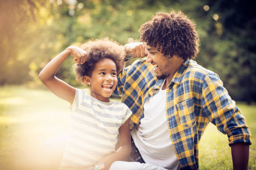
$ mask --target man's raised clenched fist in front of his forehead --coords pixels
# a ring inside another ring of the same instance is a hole
[[[133,54],[134,58],[145,57],[148,55],[148,50],[146,49],[143,42],[132,42],[124,45],[126,50],[126,55],[130,53]]]

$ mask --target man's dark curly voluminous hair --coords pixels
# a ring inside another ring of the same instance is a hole
[[[162,47],[161,53],[171,58],[178,55],[184,60],[195,58],[199,52],[199,38],[187,16],[179,11],[175,13],[156,13],[152,19],[141,25],[142,42],[151,47]]]

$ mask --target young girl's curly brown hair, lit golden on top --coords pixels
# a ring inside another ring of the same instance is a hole
[[[78,82],[84,84],[84,75],[91,77],[96,63],[104,58],[109,58],[115,62],[117,73],[121,71],[125,49],[118,42],[109,38],[90,40],[82,44],[80,48],[87,52],[87,60],[83,64],[76,63],[73,65]]]

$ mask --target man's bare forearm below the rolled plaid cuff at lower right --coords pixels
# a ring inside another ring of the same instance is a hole
[[[247,170],[249,160],[249,144],[231,144],[233,170]]]

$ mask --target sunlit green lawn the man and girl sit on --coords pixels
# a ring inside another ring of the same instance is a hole
[[[256,142],[256,105],[238,103]],[[21,86],[0,87],[0,170],[29,170],[41,144],[67,133],[68,103],[48,90]],[[256,148],[250,146],[249,170],[256,169]],[[228,138],[209,125],[200,142],[201,170],[231,170]]]

